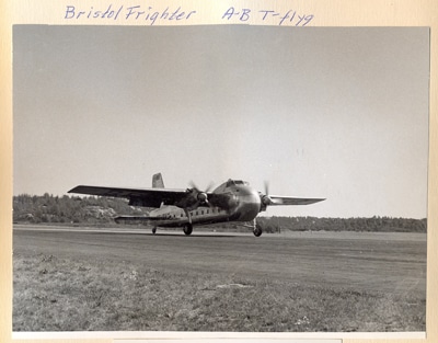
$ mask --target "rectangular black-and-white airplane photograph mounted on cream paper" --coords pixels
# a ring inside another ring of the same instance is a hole
[[[12,330],[424,333],[429,39],[14,25]]]

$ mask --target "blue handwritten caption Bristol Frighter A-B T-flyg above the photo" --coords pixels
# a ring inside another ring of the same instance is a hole
[[[152,7],[142,5],[113,5],[110,4],[104,9],[77,9],[74,5],[67,5],[64,15],[65,20],[111,20],[111,21],[129,21],[143,22],[153,25],[158,22],[164,23],[171,21],[189,21],[198,13],[195,10],[186,10],[182,7],[166,8],[165,10],[155,11]],[[258,21],[272,21],[278,25],[306,26],[313,20],[312,14],[302,14],[297,11],[286,11],[280,13],[274,10],[234,9],[228,8],[223,12],[219,12],[221,21],[249,22],[253,19]]]

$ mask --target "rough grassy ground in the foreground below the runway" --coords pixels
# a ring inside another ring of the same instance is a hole
[[[14,331],[424,331],[425,300],[15,255]]]

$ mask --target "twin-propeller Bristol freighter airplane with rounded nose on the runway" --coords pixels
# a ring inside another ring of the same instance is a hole
[[[68,193],[97,196],[122,197],[129,201],[130,206],[152,207],[148,216],[118,216],[122,220],[143,220],[152,224],[152,233],[158,227],[182,227],[185,235],[193,232],[194,225],[217,222],[249,222],[255,237],[263,232],[256,225],[256,217],[268,206],[309,205],[325,198],[300,198],[268,195],[257,192],[246,181],[229,179],[216,190],[199,191],[194,184],[186,190],[165,188],[161,173],[152,176],[151,188],[123,188],[78,185]],[[243,225],[243,224],[242,224]],[[247,226],[247,225],[243,225]]]

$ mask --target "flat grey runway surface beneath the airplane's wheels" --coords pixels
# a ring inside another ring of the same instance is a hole
[[[142,263],[166,271],[231,274],[302,285],[426,293],[426,235],[182,232],[15,226],[14,253]]]

